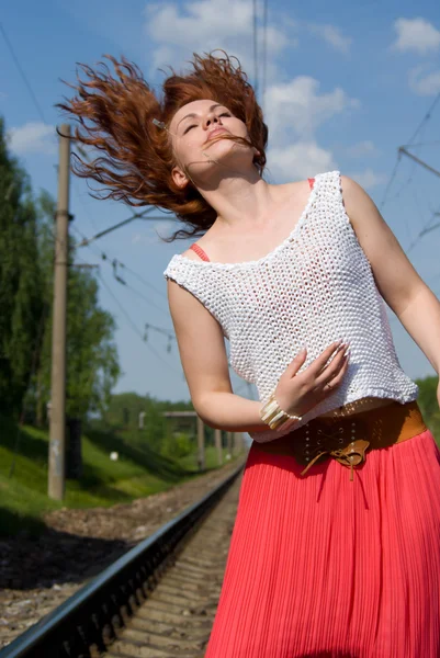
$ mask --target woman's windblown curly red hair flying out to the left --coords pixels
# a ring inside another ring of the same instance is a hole
[[[216,213],[191,182],[183,190],[173,182],[171,172],[177,162],[171,140],[154,118],[169,126],[180,107],[203,99],[226,105],[246,124],[250,141],[219,137],[256,147],[260,155],[253,162],[260,174],[266,166],[268,128],[261,107],[238,59],[234,58],[234,66],[233,58],[221,53],[222,57],[194,54],[190,63],[193,70],[188,75],[178,75],[169,67],[171,76],[162,84],[162,98],[156,95],[136,65],[125,57],[117,61],[105,55],[116,76],[112,77],[103,61],[95,69],[79,64],[87,79],[81,80],[77,72],[77,83],[67,83],[76,95],[57,104],[78,123],[74,138],[103,154],[92,162],[75,154],[72,171],[103,185],[92,194],[97,198],[154,205],[176,214],[187,227],[167,241],[203,235],[214,224]]]

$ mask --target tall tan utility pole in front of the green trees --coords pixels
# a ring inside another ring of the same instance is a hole
[[[55,216],[54,310],[48,496],[63,500],[66,484],[66,308],[69,224],[70,126],[59,128],[58,204]]]

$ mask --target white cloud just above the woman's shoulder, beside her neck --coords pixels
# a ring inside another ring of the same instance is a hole
[[[268,172],[277,183],[303,180],[335,168],[331,152],[316,141],[298,141],[285,148],[271,148],[268,152]]]

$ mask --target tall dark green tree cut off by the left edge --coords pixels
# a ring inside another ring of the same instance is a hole
[[[0,411],[18,413],[38,351],[44,309],[37,215],[27,174],[0,117]]]

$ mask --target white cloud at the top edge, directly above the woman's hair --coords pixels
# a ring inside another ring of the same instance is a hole
[[[261,9],[261,8],[260,8]],[[157,47],[154,68],[165,64],[178,65],[192,58],[193,53],[224,48],[239,58],[247,71],[253,72],[252,55],[253,3],[251,0],[194,0],[181,7],[172,2],[148,4],[144,32]],[[261,37],[261,27],[259,27]],[[261,38],[260,38],[261,43]],[[268,24],[268,75],[272,75],[272,58],[286,45],[295,45],[285,33]]]

